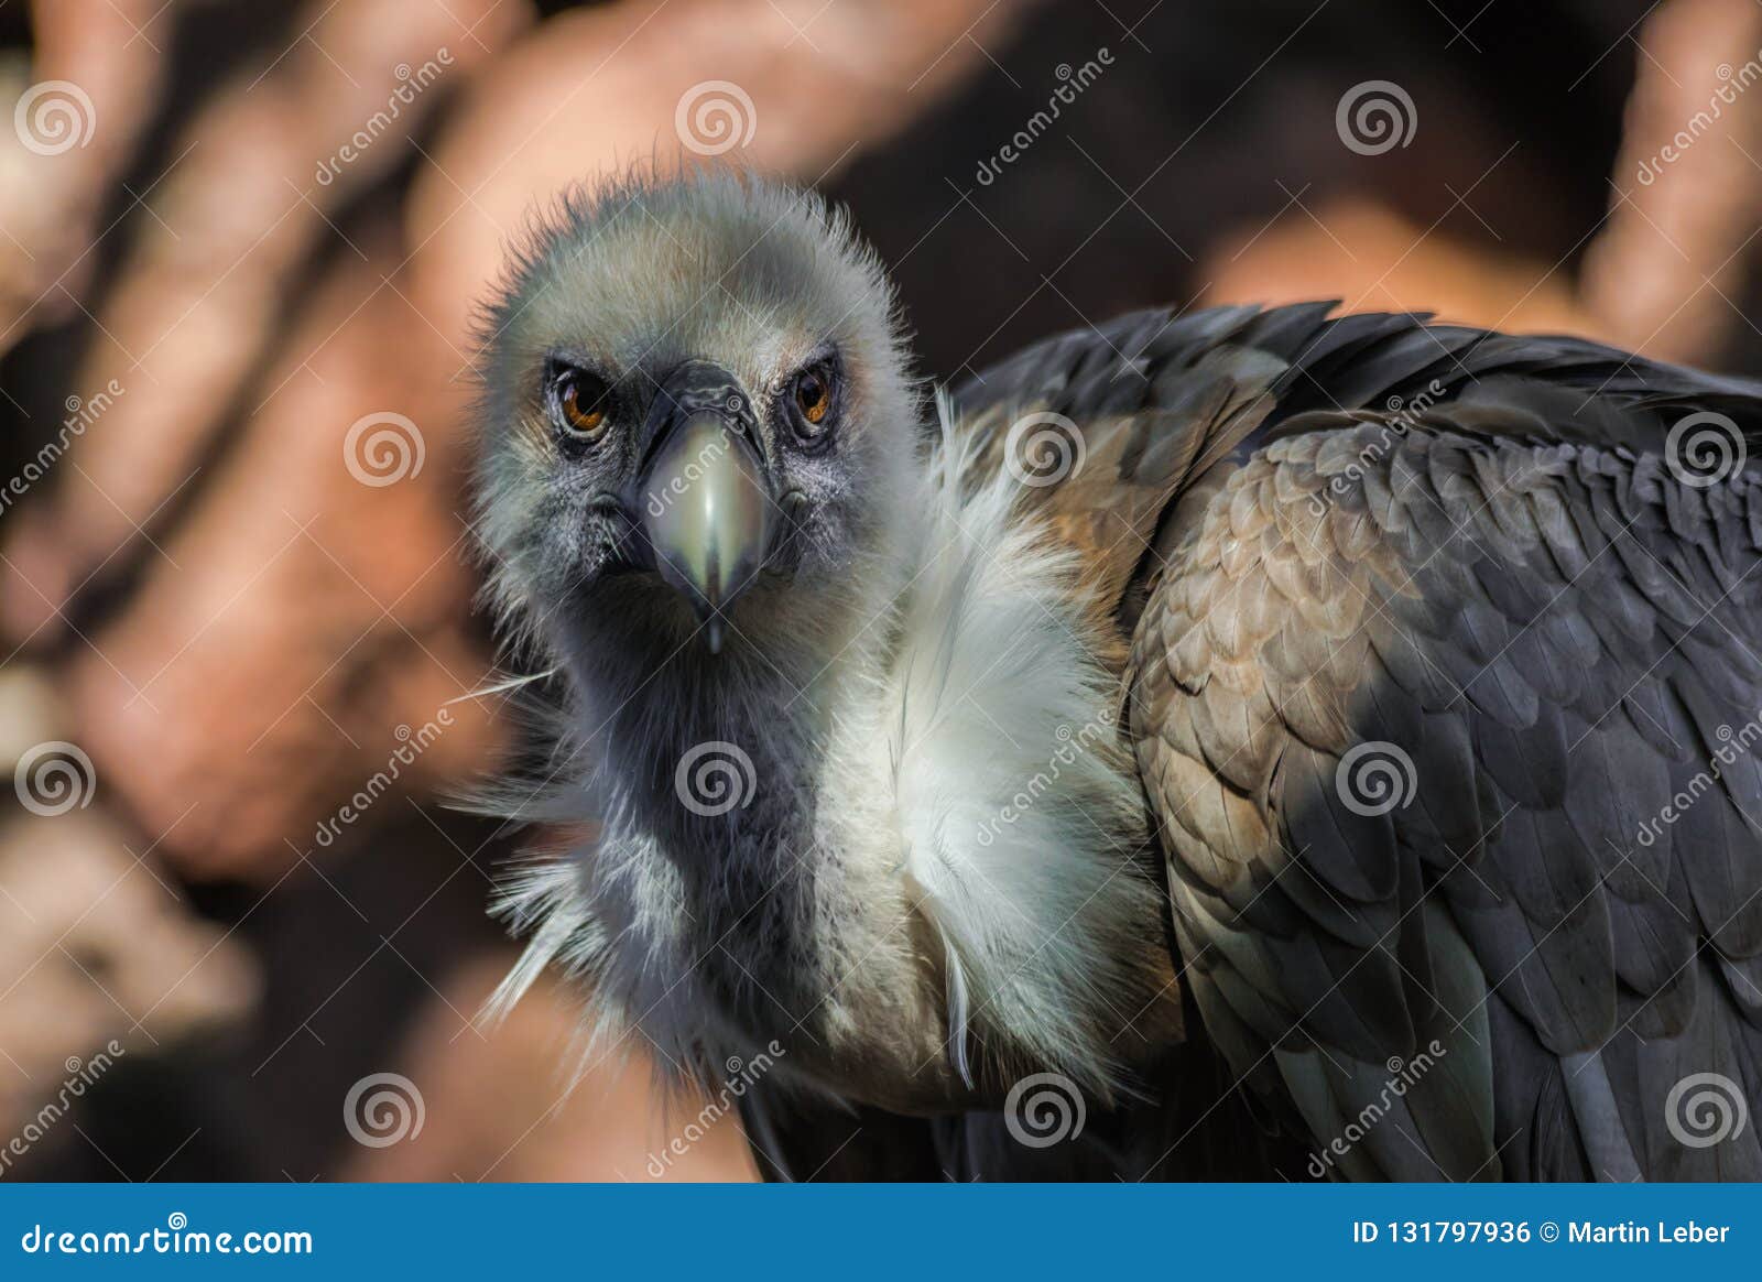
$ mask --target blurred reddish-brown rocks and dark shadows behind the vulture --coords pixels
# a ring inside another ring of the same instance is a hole
[[[1306,298],[1762,373],[1757,81],[1755,0],[0,0],[0,1178],[752,1178],[476,1025],[474,305],[566,183],[821,187],[943,380]]]

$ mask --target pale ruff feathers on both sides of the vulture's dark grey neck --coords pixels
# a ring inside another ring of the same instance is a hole
[[[818,940],[828,1041],[860,1055],[946,1035],[936,1069],[969,1087],[1052,1067],[1107,1097],[1122,1078],[1114,1035],[1154,995],[1147,958],[1163,951],[1121,682],[1077,555],[1024,518],[1008,472],[964,491],[967,460],[943,416],[895,599],[877,600],[881,622],[830,678],[812,780],[826,852],[816,916],[837,923]],[[613,817],[590,858],[634,870],[643,842]],[[499,1000],[550,963],[592,977],[634,939],[592,921],[580,886],[557,868],[511,888],[506,909],[534,935]],[[911,946],[923,925],[941,956]],[[634,1014],[596,1009],[604,1032]]]

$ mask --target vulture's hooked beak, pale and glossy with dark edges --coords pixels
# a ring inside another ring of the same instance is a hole
[[[728,370],[687,361],[655,396],[648,430],[641,500],[655,569],[721,653],[722,615],[763,569],[777,512],[752,402]]]

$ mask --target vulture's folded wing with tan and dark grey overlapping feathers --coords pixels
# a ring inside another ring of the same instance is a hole
[[[1415,317],[1136,324],[1006,368],[1087,421],[1283,366],[1188,416],[1133,571],[1232,1067],[1346,1176],[1762,1176],[1762,387]]]

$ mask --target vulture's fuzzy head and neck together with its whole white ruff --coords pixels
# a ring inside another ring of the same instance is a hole
[[[566,692],[507,808],[596,829],[513,889],[506,995],[578,972],[613,1041],[712,1079],[1107,1090],[1099,995],[1166,984],[1110,643],[1020,488],[957,481],[849,222],[715,171],[567,197],[483,377],[492,593]]]

